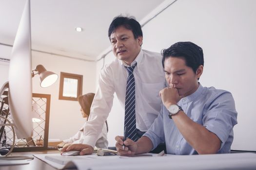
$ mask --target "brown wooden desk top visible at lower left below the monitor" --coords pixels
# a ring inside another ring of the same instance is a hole
[[[59,151],[33,151],[33,152],[20,152],[20,153],[11,153],[10,156],[33,156],[33,154],[44,154],[44,153],[59,153]],[[56,170],[47,163],[41,161],[38,158],[28,161],[29,164],[26,165],[9,165],[9,166],[0,166],[0,170]]]

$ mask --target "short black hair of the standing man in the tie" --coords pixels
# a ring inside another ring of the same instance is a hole
[[[108,37],[110,39],[110,35],[119,27],[123,26],[124,28],[131,30],[133,32],[134,38],[138,38],[138,36],[142,36],[141,26],[138,21],[134,17],[123,17],[118,16],[113,19],[108,29]]]

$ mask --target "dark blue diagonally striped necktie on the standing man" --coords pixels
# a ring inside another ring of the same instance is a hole
[[[135,65],[136,66],[136,65]],[[136,141],[136,116],[135,116],[135,79],[133,75],[133,67],[126,67],[128,70],[128,78],[126,84],[125,95],[125,114],[124,114],[124,127],[128,127],[127,137]]]

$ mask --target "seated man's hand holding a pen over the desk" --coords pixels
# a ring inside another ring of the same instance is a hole
[[[127,138],[125,141],[123,141],[123,136],[116,136],[115,137],[117,143],[117,152],[121,156],[129,156],[134,155],[137,151],[138,145],[135,141]],[[123,144],[125,145],[123,150]]]

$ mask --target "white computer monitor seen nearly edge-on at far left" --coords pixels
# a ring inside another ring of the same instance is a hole
[[[8,100],[18,138],[31,137],[33,134],[30,31],[30,1],[27,0],[9,64]]]

